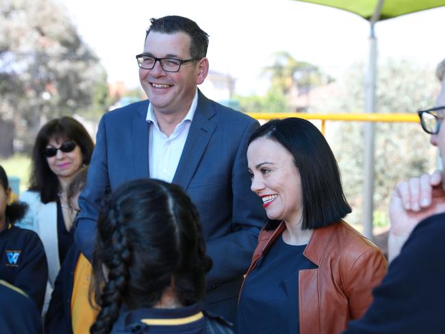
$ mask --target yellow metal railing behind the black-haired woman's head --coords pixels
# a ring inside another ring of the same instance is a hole
[[[327,120],[348,120],[358,122],[385,122],[385,123],[419,123],[417,114],[307,114],[305,112],[262,113],[249,112],[249,116],[257,120],[270,120],[272,118],[299,117],[307,120],[321,120],[321,132],[325,134]]]

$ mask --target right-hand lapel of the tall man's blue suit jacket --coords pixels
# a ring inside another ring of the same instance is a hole
[[[188,131],[175,177],[173,177],[173,183],[180,185],[183,190],[188,188],[217,124],[216,112],[212,103],[199,90],[198,94],[196,112]]]

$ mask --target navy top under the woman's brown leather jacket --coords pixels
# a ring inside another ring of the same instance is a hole
[[[304,255],[307,245],[277,238],[246,279],[238,306],[238,333],[299,333],[298,270],[317,266]]]

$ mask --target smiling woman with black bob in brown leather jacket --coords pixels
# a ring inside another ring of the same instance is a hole
[[[269,221],[240,292],[238,333],[340,333],[366,311],[387,263],[342,220],[351,207],[329,144],[307,120],[270,120],[247,160]]]

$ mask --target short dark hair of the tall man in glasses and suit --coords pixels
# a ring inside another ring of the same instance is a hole
[[[151,31],[160,32],[162,34],[175,34],[184,32],[190,36],[190,56],[193,59],[201,59],[207,55],[207,47],[209,46],[209,35],[203,31],[196,22],[183,16],[164,16],[162,18],[151,18],[151,26],[147,30],[145,39]]]

